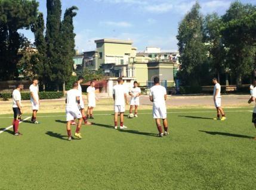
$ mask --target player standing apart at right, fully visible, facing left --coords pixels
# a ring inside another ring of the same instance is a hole
[[[214,118],[214,120],[224,121],[227,118],[225,116],[224,110],[221,108],[221,96],[220,96],[221,86],[218,83],[217,78],[213,78],[212,83],[214,83],[214,93],[213,93],[214,105],[217,109],[217,118]],[[220,113],[221,113],[221,116],[222,116],[221,119],[220,119]]]

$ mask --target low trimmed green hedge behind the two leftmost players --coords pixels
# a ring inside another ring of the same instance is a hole
[[[11,93],[2,93],[1,94],[2,99],[8,100],[12,98]],[[39,92],[39,98],[42,99],[60,99],[63,97],[62,91],[41,91]],[[30,93],[21,93],[21,100],[29,100],[30,99]]]

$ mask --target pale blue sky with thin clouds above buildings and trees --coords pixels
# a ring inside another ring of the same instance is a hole
[[[39,1],[39,11],[47,16],[46,0]],[[203,15],[225,13],[230,0],[201,0]],[[256,0],[242,0],[256,4]],[[187,0],[62,0],[62,11],[73,5],[79,8],[74,18],[76,49],[95,50],[94,40],[109,38],[132,40],[138,51],[147,46],[177,50],[178,24],[195,1]],[[62,18],[61,18],[62,19]],[[21,33],[34,40],[30,30]]]

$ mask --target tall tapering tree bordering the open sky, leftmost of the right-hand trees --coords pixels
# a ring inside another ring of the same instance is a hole
[[[207,70],[206,47],[203,40],[203,17],[200,5],[196,2],[178,27],[178,48],[181,71],[178,77],[187,85],[202,85]],[[204,75],[204,76],[203,76]],[[193,80],[192,80],[193,78]]]

